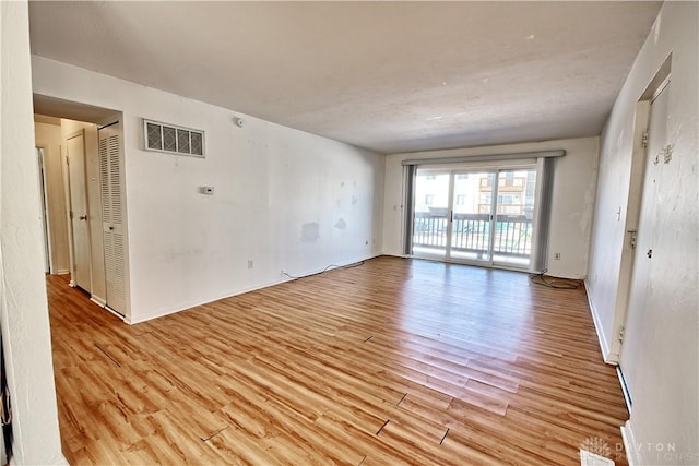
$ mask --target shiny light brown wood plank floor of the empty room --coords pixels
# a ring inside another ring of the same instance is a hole
[[[626,464],[582,288],[378,258],[129,326],[47,283],[71,464]]]

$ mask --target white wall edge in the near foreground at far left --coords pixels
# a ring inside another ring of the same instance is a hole
[[[34,157],[26,1],[0,2],[0,323],[12,395],[12,464],[61,454]]]

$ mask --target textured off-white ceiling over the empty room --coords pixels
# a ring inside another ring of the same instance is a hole
[[[35,2],[32,52],[383,153],[600,134],[657,2]]]

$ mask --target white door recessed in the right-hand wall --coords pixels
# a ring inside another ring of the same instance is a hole
[[[653,256],[653,228],[657,200],[657,177],[663,164],[665,128],[667,119],[667,86],[651,101],[648,148],[645,153],[645,174],[641,193],[641,207],[636,240],[636,253],[631,271],[631,284],[626,314],[624,340],[619,355],[619,366],[624,374],[626,389],[633,402],[637,369],[642,361],[639,358],[647,312],[645,301],[649,290],[649,276]]]

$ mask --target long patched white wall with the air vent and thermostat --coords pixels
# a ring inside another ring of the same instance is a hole
[[[123,111],[131,322],[380,253],[382,155],[40,57],[33,73]],[[204,130],[206,158],[142,151],[141,118]]]

